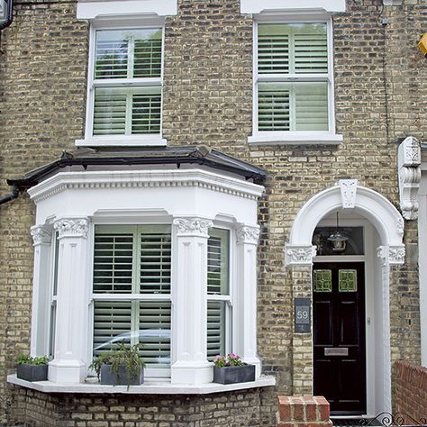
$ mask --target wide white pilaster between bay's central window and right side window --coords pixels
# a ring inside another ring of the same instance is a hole
[[[200,218],[176,218],[173,224],[171,382],[210,383],[213,364],[206,359],[207,239],[213,223]]]

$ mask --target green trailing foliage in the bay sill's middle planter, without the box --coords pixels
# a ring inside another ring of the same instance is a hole
[[[126,368],[129,379],[135,379],[140,375],[144,361],[140,357],[138,344],[126,346],[124,342],[119,342],[116,349],[101,353],[89,365],[89,368],[95,370],[98,379],[103,365],[111,365],[111,370],[117,379],[120,379],[119,369],[121,367]]]

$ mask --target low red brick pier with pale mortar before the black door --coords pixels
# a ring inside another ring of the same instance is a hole
[[[329,414],[329,402],[323,396],[278,396],[277,427],[330,426]]]

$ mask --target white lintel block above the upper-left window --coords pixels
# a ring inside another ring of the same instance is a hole
[[[177,14],[177,0],[79,0],[77,19]]]

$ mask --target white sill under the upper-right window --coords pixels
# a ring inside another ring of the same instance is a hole
[[[330,132],[266,132],[248,137],[250,145],[339,145],[342,135]]]

